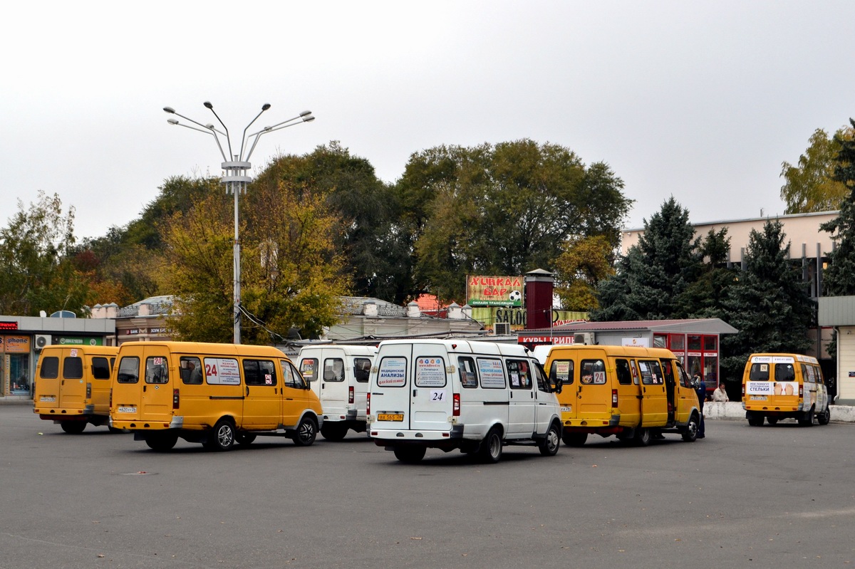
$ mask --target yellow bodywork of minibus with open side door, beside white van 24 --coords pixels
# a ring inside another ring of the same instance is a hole
[[[677,377],[669,402],[664,361],[671,362],[673,368],[677,359],[670,350],[658,348],[553,347],[546,359],[546,372],[551,374],[553,362],[557,362],[563,371],[572,370],[574,376],[558,394],[565,430],[607,436],[635,427],[686,425],[693,411],[698,412],[698,396]],[[603,362],[602,368],[597,362]],[[586,368],[592,363],[594,371],[589,373]],[[622,375],[623,380],[619,378],[619,367],[628,369],[629,375]]]

